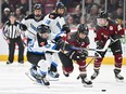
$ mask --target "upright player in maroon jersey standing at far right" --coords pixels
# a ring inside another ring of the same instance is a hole
[[[97,43],[97,49],[103,49],[105,42],[111,39],[111,43],[109,48],[111,49],[114,55],[114,75],[117,80],[124,80],[124,77],[119,75],[122,69],[122,45],[121,38],[124,37],[124,29],[121,25],[112,22],[108,18],[108,13],[101,11],[97,17],[97,27],[96,27],[96,38],[94,41]],[[91,76],[91,80],[96,79],[99,75],[100,66],[102,59],[104,58],[105,52],[98,52],[102,58],[96,58],[93,63],[93,75]]]

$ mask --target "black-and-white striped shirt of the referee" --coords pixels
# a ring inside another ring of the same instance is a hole
[[[14,24],[11,24],[10,21],[8,21],[3,28],[3,38],[4,39],[15,39],[21,36],[21,29],[20,29],[20,23],[15,22]]]

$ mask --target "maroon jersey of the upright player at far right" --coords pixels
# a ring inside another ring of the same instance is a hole
[[[105,44],[106,40],[114,36],[114,35],[117,35],[117,36],[124,36],[125,32],[124,32],[124,29],[122,28],[121,25],[112,22],[112,21],[108,21],[108,26],[104,26],[104,27],[100,27],[100,26],[97,26],[96,28],[96,38],[94,38],[94,41],[99,41],[101,40],[103,42],[103,45]]]

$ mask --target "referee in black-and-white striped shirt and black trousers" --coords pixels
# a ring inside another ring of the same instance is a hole
[[[9,58],[7,64],[12,64],[14,61],[15,43],[18,45],[18,63],[24,63],[24,45],[21,38],[20,23],[16,21],[15,14],[10,13],[9,21],[4,24],[3,38],[9,43]]]

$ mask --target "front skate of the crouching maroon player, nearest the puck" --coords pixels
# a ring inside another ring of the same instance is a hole
[[[87,75],[79,75],[77,79],[79,78],[81,79],[81,83],[84,84],[84,86],[92,88],[92,82],[87,79]]]

